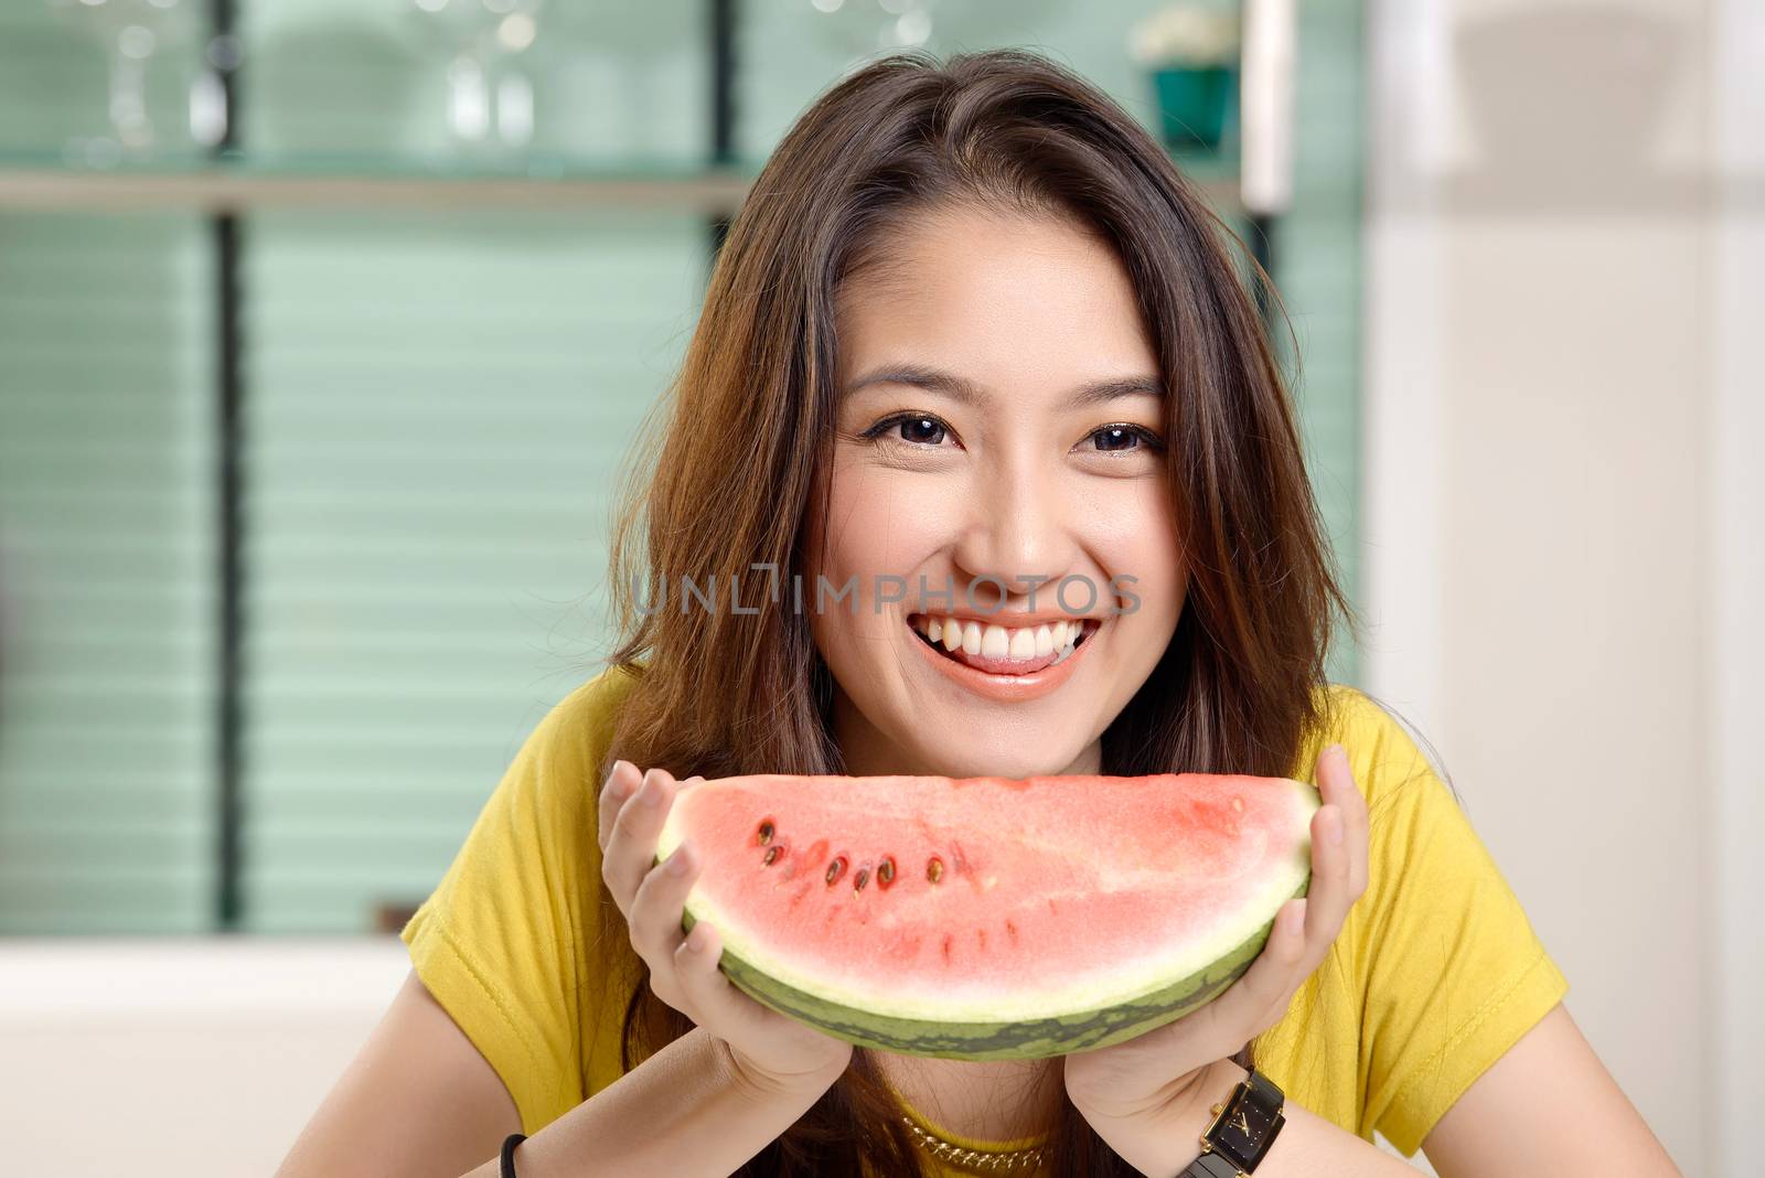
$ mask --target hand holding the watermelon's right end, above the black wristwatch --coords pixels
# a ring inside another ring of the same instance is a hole
[[[1281,905],[1262,952],[1223,995],[1137,1039],[1066,1056],[1066,1095],[1085,1120],[1191,1120],[1211,1065],[1236,1055],[1287,1012],[1366,891],[1366,799],[1340,744],[1318,755],[1324,804],[1311,816],[1311,887]],[[1340,841],[1334,836],[1340,834]],[[1205,1123],[1205,1122],[1202,1122]]]

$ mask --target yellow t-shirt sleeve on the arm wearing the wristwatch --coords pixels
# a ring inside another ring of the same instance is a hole
[[[1368,794],[1364,1122],[1405,1155],[1569,991],[1458,799],[1408,734],[1356,693]],[[1347,741],[1345,741],[1347,744]]]

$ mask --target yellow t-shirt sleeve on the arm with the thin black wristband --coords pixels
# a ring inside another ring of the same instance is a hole
[[[620,674],[597,675],[540,719],[399,935],[528,1134],[584,1099],[581,929],[598,905],[595,806]]]

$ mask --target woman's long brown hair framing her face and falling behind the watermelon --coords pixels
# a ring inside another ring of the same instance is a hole
[[[801,568],[833,444],[835,296],[928,210],[1064,217],[1117,250],[1168,390],[1165,437],[1190,571],[1145,686],[1103,734],[1103,772],[1285,776],[1324,721],[1326,651],[1354,624],[1311,497],[1280,365],[1234,235],[1138,122],[1024,51],[877,60],[805,111],[768,159],[711,273],[685,363],[612,536],[611,661],[634,674],[609,753],[680,776],[838,774],[831,677],[787,593],[655,608],[685,580],[780,584]],[[764,577],[759,577],[764,582]],[[648,988],[611,899],[602,945],[630,979],[623,1067],[692,1023]],[[1248,1060],[1246,1053],[1239,1058]],[[1061,1178],[1131,1174],[1061,1100]],[[918,1174],[874,1060],[852,1067],[741,1174]]]

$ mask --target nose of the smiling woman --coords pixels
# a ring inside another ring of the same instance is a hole
[[[957,584],[971,585],[974,605],[990,608],[1036,596],[1041,608],[1071,570],[1075,541],[1061,480],[1027,464],[981,473],[964,497],[957,538]],[[980,578],[988,580],[980,580]],[[980,584],[976,584],[980,580]],[[1006,600],[1001,601],[999,587]],[[958,589],[960,593],[960,589]]]

